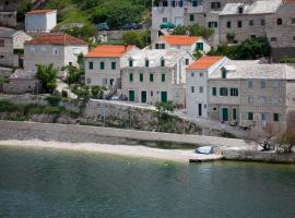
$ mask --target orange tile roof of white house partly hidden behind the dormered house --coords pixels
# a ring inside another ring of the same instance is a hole
[[[165,35],[162,38],[169,45],[174,46],[191,46],[198,41],[201,37],[188,36],[188,35]]]

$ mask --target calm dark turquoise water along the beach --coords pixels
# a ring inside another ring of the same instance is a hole
[[[295,166],[0,147],[0,217],[288,218]]]

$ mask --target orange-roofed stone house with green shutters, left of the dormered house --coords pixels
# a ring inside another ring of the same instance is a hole
[[[138,50],[135,46],[99,45],[85,58],[85,84],[119,88],[122,57]]]

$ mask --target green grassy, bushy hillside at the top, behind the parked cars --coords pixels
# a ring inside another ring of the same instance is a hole
[[[149,17],[150,0],[48,0],[44,8],[58,10],[58,22],[107,22],[110,28]]]

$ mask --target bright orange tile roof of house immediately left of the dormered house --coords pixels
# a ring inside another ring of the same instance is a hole
[[[126,51],[135,48],[135,46],[125,45],[99,45],[92,49],[86,57],[87,58],[119,58]]]

